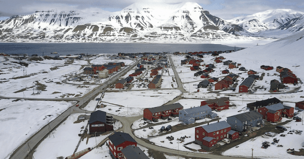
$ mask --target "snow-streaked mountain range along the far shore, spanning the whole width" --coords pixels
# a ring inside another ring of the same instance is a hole
[[[277,14],[272,18],[265,18],[275,12]],[[265,29],[302,15],[291,10],[262,13],[251,17],[263,22]],[[286,15],[280,16],[283,14]],[[276,21],[274,17],[277,17]],[[260,25],[248,29],[245,22],[250,16],[241,19],[243,23],[239,23],[239,19],[225,21],[194,2],[134,3],[118,12],[37,11],[0,21],[0,41],[202,43],[267,39],[252,31],[260,30]],[[270,21],[276,23],[271,24]]]

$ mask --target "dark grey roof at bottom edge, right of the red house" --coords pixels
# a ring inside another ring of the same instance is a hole
[[[122,149],[122,153],[127,159],[149,159],[139,147],[133,145]]]

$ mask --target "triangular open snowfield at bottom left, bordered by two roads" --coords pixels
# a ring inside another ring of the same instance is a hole
[[[12,99],[0,102],[1,159],[8,159],[26,139],[76,103]]]

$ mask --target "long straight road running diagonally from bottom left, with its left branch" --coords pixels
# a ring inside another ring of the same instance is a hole
[[[85,94],[84,96],[80,98],[69,98],[70,100],[78,100],[79,106],[86,103],[87,101],[91,100],[93,96],[100,93],[101,90],[107,88],[110,86],[113,82],[115,82],[120,76],[122,76],[124,73],[126,73],[129,69],[133,68],[137,63],[139,62],[133,62],[131,65],[127,66],[124,70],[120,71],[116,75],[112,76],[111,79],[104,82],[101,86],[93,89],[89,93]],[[8,97],[3,97],[8,98]],[[12,99],[30,99],[30,100],[41,100],[37,98],[17,98],[12,97]],[[45,99],[45,100],[66,100],[67,98],[54,98],[54,99]],[[44,99],[42,99],[44,100]],[[74,110],[74,112],[70,112],[71,110]],[[52,131],[56,126],[58,126],[62,121],[64,121],[70,114],[72,113],[84,113],[85,111],[80,110],[76,106],[72,106],[70,109],[66,110],[64,113],[60,114],[58,117],[56,117],[54,120],[52,120],[49,124],[45,125],[41,130],[39,130],[36,134],[31,136],[25,143],[23,143],[21,146],[19,146],[13,154],[10,156],[10,159],[25,159],[25,157],[28,155],[28,149],[33,149],[33,147],[38,146],[39,143],[44,139],[45,136],[48,136],[50,133],[50,130]]]

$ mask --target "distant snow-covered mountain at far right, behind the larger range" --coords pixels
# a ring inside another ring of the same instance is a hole
[[[254,33],[276,29],[284,23],[302,15],[304,15],[303,12],[291,9],[273,9],[253,15],[236,17],[228,20],[228,22],[241,25],[245,30]]]

